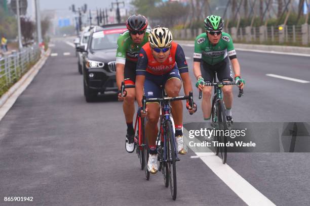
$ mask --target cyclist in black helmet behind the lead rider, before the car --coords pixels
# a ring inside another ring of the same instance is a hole
[[[141,47],[148,41],[149,32],[146,31],[147,19],[141,15],[132,15],[127,19],[128,31],[120,35],[116,54],[116,80],[119,91],[124,81],[125,85],[135,84],[136,65]],[[119,100],[124,101],[123,110],[127,124],[126,150],[134,151],[133,116],[135,113],[135,88],[127,88],[126,97],[119,92]]]

